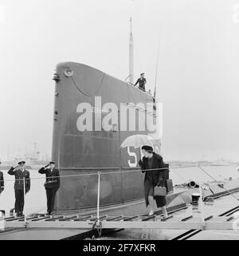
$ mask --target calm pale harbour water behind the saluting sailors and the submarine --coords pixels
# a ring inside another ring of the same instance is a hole
[[[206,166],[202,167],[214,179],[233,179],[238,178],[236,165],[229,166]],[[14,208],[14,176],[8,175],[7,171],[2,171],[5,179],[5,190],[0,195],[0,209],[6,210],[9,214],[10,209]],[[40,175],[36,169],[29,170],[31,177],[31,189],[25,196],[25,214],[33,212],[42,213],[46,211],[46,195],[45,195],[45,175]],[[41,179],[33,179],[41,178]],[[171,168],[170,179],[173,183],[180,184],[186,183],[190,180],[206,182],[213,181],[209,175],[206,175],[198,167],[185,167],[185,168]],[[10,181],[8,181],[10,180]]]

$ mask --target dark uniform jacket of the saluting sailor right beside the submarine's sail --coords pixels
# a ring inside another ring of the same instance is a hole
[[[53,168],[53,171],[51,171],[49,168],[41,167],[41,169],[38,171],[41,174],[45,174],[45,188],[55,188],[58,189],[60,187],[60,174],[58,169]]]

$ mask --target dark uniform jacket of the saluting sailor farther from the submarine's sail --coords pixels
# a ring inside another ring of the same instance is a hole
[[[30,178],[29,178],[29,171],[21,171],[16,170],[14,171],[14,167],[10,167],[10,170],[7,172],[9,175],[15,175],[15,190],[24,190],[23,186],[23,178],[25,178],[25,192],[30,190]]]

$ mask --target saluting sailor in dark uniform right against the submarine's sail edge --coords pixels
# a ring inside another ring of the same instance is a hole
[[[47,199],[47,215],[52,215],[54,211],[55,195],[60,187],[60,174],[55,167],[56,163],[50,161],[45,167],[41,167],[38,171],[41,174],[45,174],[45,192]]]

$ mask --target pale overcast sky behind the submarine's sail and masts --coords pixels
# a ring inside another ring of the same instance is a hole
[[[57,63],[127,77],[130,17],[165,159],[239,161],[239,0],[0,0],[0,160],[50,155]]]

